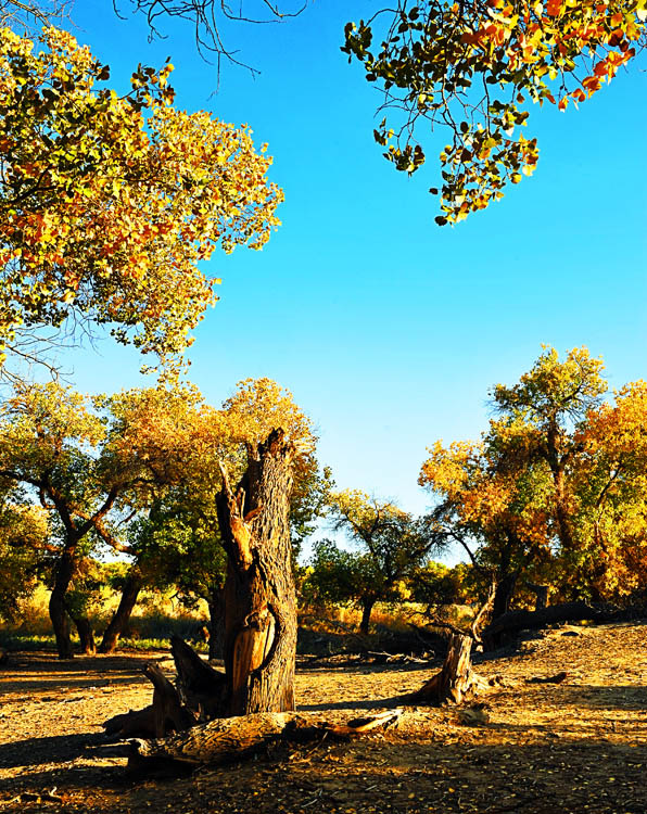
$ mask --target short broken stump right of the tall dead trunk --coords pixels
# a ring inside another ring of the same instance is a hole
[[[407,701],[434,705],[445,701],[460,703],[478,689],[482,679],[472,671],[472,643],[471,636],[452,634],[443,666]]]

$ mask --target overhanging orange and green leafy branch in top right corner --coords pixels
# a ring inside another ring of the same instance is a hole
[[[536,139],[518,129],[528,103],[566,110],[588,99],[645,44],[646,21],[644,0],[398,0],[348,23],[342,50],[383,90],[381,110],[394,120],[385,116],[373,132],[396,169],[410,175],[424,163],[420,127],[448,129],[435,219],[443,226],[532,175]]]

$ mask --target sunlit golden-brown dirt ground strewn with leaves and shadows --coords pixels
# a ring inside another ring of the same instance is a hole
[[[645,814],[646,644],[645,624],[550,631],[478,664],[504,685],[483,699],[489,720],[477,725],[460,710],[407,708],[384,735],[173,780],[128,776],[100,726],[150,702],[141,667],[155,660],[170,669],[166,654],[63,663],[14,654],[0,672],[0,814]],[[560,684],[529,681],[560,671]],[[346,721],[390,705],[429,674],[422,665],[315,663],[299,671],[300,705]]]

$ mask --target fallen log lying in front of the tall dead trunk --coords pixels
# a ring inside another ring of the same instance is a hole
[[[257,712],[251,715],[218,718],[193,726],[181,733],[154,740],[130,741],[128,767],[192,768],[205,764],[239,761],[277,742],[306,743],[327,737],[358,737],[396,722],[402,710],[388,710],[340,726],[318,722],[313,716],[294,712]]]

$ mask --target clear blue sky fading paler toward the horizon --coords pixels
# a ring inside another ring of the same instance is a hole
[[[645,378],[647,63],[580,111],[533,110],[533,178],[441,229],[427,190],[446,136],[413,179],[395,173],[372,139],[379,94],[339,50],[347,20],[371,8],[316,0],[284,24],[238,26],[262,73],[225,66],[217,94],[190,26],[164,21],[167,39],[148,43],[143,20],[118,20],[110,0],[77,2],[74,18],[116,86],[170,55],[179,106],[249,123],[275,156],[282,226],[263,252],[208,264],[221,301],[198,331],[191,379],[213,404],[240,379],[275,379],[317,423],[340,487],[422,511],[426,447],[477,437],[487,390],[515,382],[542,343],[588,346],[611,386]],[[142,383],[137,355],[111,342],[67,361],[80,390]]]

